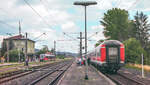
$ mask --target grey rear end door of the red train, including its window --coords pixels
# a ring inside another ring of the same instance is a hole
[[[119,46],[106,46],[106,61],[107,63],[119,64],[120,50]]]

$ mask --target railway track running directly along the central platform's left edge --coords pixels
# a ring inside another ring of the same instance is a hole
[[[32,81],[28,85],[56,85],[64,72],[72,65],[72,61],[62,63],[57,68],[50,70],[45,75]]]

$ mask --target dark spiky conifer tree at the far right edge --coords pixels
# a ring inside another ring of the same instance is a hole
[[[150,24],[148,24],[148,16],[144,15],[143,12],[137,12],[134,18],[134,24],[136,27],[136,39],[140,41],[142,47],[146,50],[146,47],[149,44],[148,38],[150,36]]]

